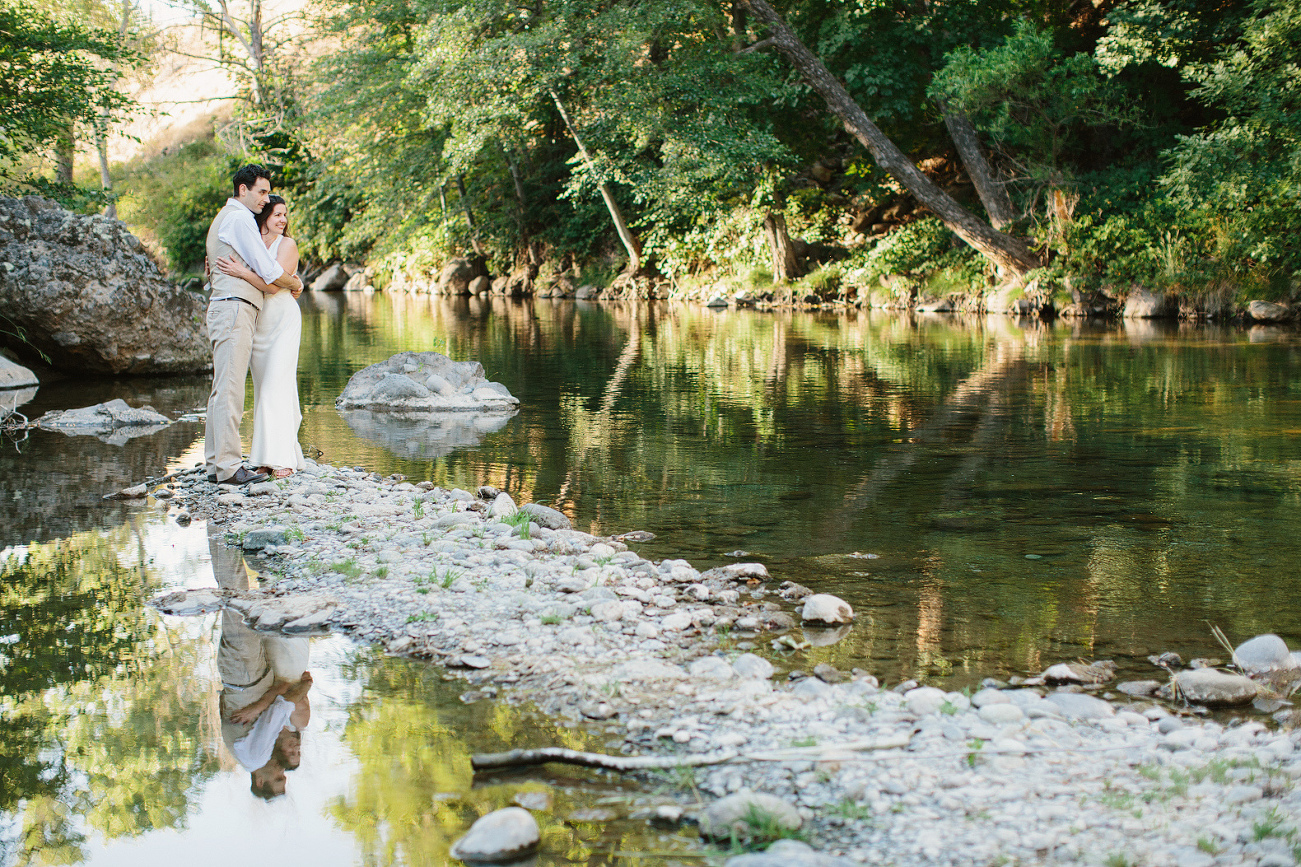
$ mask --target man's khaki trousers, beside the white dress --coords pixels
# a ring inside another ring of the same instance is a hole
[[[239,420],[256,328],[258,309],[252,305],[232,298],[208,302],[212,393],[203,428],[203,457],[208,474],[216,474],[217,480],[229,479],[243,465]]]

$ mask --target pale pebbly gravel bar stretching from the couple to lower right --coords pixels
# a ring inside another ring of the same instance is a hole
[[[680,803],[653,819],[808,844],[735,867],[1283,867],[1301,855],[1301,737],[1285,703],[1279,722],[1211,719],[1110,693],[1089,667],[1066,686],[971,695],[887,689],[857,669],[779,680],[753,651],[837,640],[848,605],[778,586],[760,564],[650,562],[630,549],[636,534],[595,538],[492,488],[308,463],[243,489],[199,470],[156,486],[177,521],[224,529],[276,579],[155,605],[345,631],[459,672],[467,702],[535,702],[606,732],[622,745],[611,755],[712,762],[683,768]]]

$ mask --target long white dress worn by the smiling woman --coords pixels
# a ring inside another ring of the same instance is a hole
[[[281,238],[268,247],[272,258]],[[298,428],[303,413],[298,405],[298,344],[303,337],[303,314],[298,301],[281,290],[268,296],[258,314],[252,335],[252,447],[251,466],[303,470]]]

